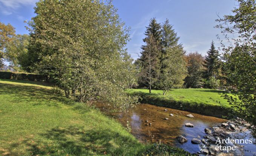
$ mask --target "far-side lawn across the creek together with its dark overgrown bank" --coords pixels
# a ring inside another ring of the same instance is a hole
[[[224,93],[221,90],[172,89],[166,95],[162,95],[162,90],[152,90],[151,94],[147,89],[129,89],[126,92],[141,96],[144,103],[216,117],[226,116],[232,110],[227,100],[221,97]]]

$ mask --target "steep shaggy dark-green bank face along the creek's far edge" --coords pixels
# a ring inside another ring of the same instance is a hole
[[[135,92],[128,94],[131,96],[140,96],[141,103],[183,111],[191,111],[194,113],[200,113],[214,117],[229,117],[231,114],[234,113],[234,110],[232,108],[227,108],[222,105],[211,105],[202,102],[177,101],[169,97],[149,95],[148,93],[143,92]]]

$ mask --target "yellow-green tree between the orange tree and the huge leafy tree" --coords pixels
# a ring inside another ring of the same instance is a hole
[[[5,58],[16,71],[27,68],[29,39],[28,34],[17,34],[6,46]]]

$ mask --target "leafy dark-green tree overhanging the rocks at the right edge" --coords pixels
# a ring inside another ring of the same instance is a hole
[[[228,88],[238,98],[225,95],[239,116],[256,123],[256,2],[238,0],[239,7],[232,10],[233,15],[219,18],[216,27],[230,45],[225,46],[225,69],[234,87]],[[229,38],[229,35],[238,36]],[[219,37],[219,36],[218,36]],[[219,37],[220,39],[220,37]]]

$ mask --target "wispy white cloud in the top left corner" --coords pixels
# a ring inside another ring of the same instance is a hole
[[[0,0],[1,12],[10,15],[21,6],[35,5],[38,0]]]

